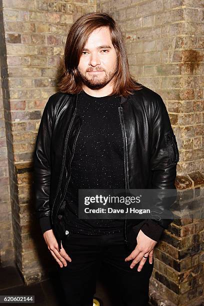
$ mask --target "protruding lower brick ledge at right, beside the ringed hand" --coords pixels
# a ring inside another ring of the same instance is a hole
[[[195,305],[197,298],[204,299],[203,185],[204,176],[199,171],[178,175],[173,207],[176,217],[154,251],[151,284],[175,305]]]

